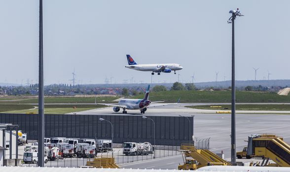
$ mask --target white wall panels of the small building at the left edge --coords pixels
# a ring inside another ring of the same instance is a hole
[[[6,134],[5,134],[5,140],[6,140],[6,145],[3,145],[3,131],[0,130],[0,146],[6,148],[7,150],[5,150],[5,158],[8,159],[9,158],[9,152],[10,152],[10,147],[9,146],[9,141],[10,141],[10,131],[6,130]],[[14,133],[12,133],[12,158],[16,157],[16,135]]]

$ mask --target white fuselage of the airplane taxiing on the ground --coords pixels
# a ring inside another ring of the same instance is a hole
[[[144,99],[122,99],[118,102],[120,106],[127,106],[129,110],[141,110],[150,105],[149,100]]]

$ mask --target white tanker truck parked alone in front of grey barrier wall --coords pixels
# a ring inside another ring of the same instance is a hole
[[[153,154],[153,147],[149,142],[144,143],[126,142],[123,143],[123,154],[125,155]]]

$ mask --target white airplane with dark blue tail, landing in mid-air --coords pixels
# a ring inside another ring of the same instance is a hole
[[[151,71],[152,75],[154,75],[154,72],[160,75],[160,72],[170,73],[172,70],[174,71],[174,74],[176,74],[177,70],[181,70],[183,68],[180,64],[176,64],[176,63],[137,64],[130,55],[126,55],[126,56],[128,60],[128,65],[125,66],[126,68],[139,70],[139,71]]]

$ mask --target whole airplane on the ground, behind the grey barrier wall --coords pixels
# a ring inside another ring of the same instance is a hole
[[[127,114],[126,109],[129,110],[140,110],[141,114],[145,114],[145,111],[149,107],[156,107],[156,106],[165,106],[169,104],[177,104],[179,103],[180,100],[178,100],[177,103],[167,103],[167,104],[155,104],[154,103],[160,103],[164,101],[159,101],[159,102],[151,102],[148,100],[149,98],[149,88],[150,85],[148,85],[144,99],[121,99],[118,104],[103,104],[103,103],[98,103],[99,105],[106,105],[106,106],[113,106],[113,111],[114,112],[119,112],[120,109],[123,109],[123,114]],[[152,104],[151,104],[152,103]]]

